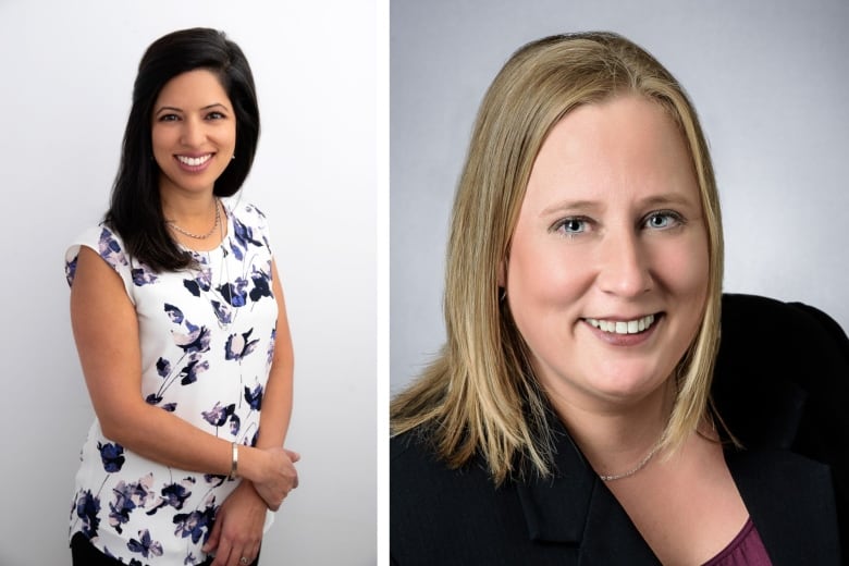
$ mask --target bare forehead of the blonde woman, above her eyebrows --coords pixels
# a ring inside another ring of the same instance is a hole
[[[593,199],[656,190],[698,197],[692,158],[669,111],[629,94],[580,106],[562,118],[533,161],[525,198]]]

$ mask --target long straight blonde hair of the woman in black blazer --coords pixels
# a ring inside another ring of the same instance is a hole
[[[507,304],[499,300],[499,266],[508,256],[530,171],[551,128],[580,104],[624,93],[667,110],[686,139],[701,193],[707,298],[701,327],[676,368],[678,395],[662,443],[674,450],[696,430],[707,410],[723,279],[707,144],[684,89],[651,54],[616,34],[583,33],[520,48],[483,98],[454,201],[445,272],[447,340],[435,361],[393,399],[392,434],[426,433],[452,467],[478,454],[496,483],[526,469],[551,472],[549,402]]]

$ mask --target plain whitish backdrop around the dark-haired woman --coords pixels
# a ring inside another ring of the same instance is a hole
[[[198,25],[224,29],[255,73],[263,131],[243,198],[270,219],[295,346],[300,487],[262,564],[376,563],[374,5],[0,0],[0,565],[71,563],[94,414],[64,250],[107,205],[144,49]]]

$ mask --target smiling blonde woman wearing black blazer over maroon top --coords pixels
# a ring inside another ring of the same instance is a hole
[[[676,79],[611,33],[519,49],[454,202],[446,344],[392,403],[393,562],[839,564],[849,342],[722,281]]]

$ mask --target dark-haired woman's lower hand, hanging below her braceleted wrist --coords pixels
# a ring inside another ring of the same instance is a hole
[[[204,545],[204,552],[216,555],[211,566],[244,566],[256,559],[267,509],[254,485],[242,480],[218,509],[212,532]],[[239,562],[243,557],[246,562]]]

